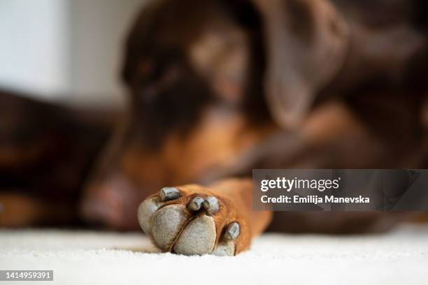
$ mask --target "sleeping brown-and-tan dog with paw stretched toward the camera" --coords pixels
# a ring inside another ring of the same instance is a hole
[[[383,231],[399,218],[283,212],[271,221],[252,210],[249,177],[252,168],[425,167],[425,11],[425,1],[405,0],[151,1],[125,45],[129,109],[101,155],[86,147],[80,172],[61,179],[84,189],[86,221],[139,222],[159,249],[180,254],[238,254],[269,225]],[[99,124],[92,115],[79,126]],[[52,141],[64,136],[54,130]],[[76,136],[64,146],[84,144]]]

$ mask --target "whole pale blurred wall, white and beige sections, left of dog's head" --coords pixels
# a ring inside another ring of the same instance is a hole
[[[1,0],[0,86],[49,100],[123,103],[123,39],[144,1]]]

